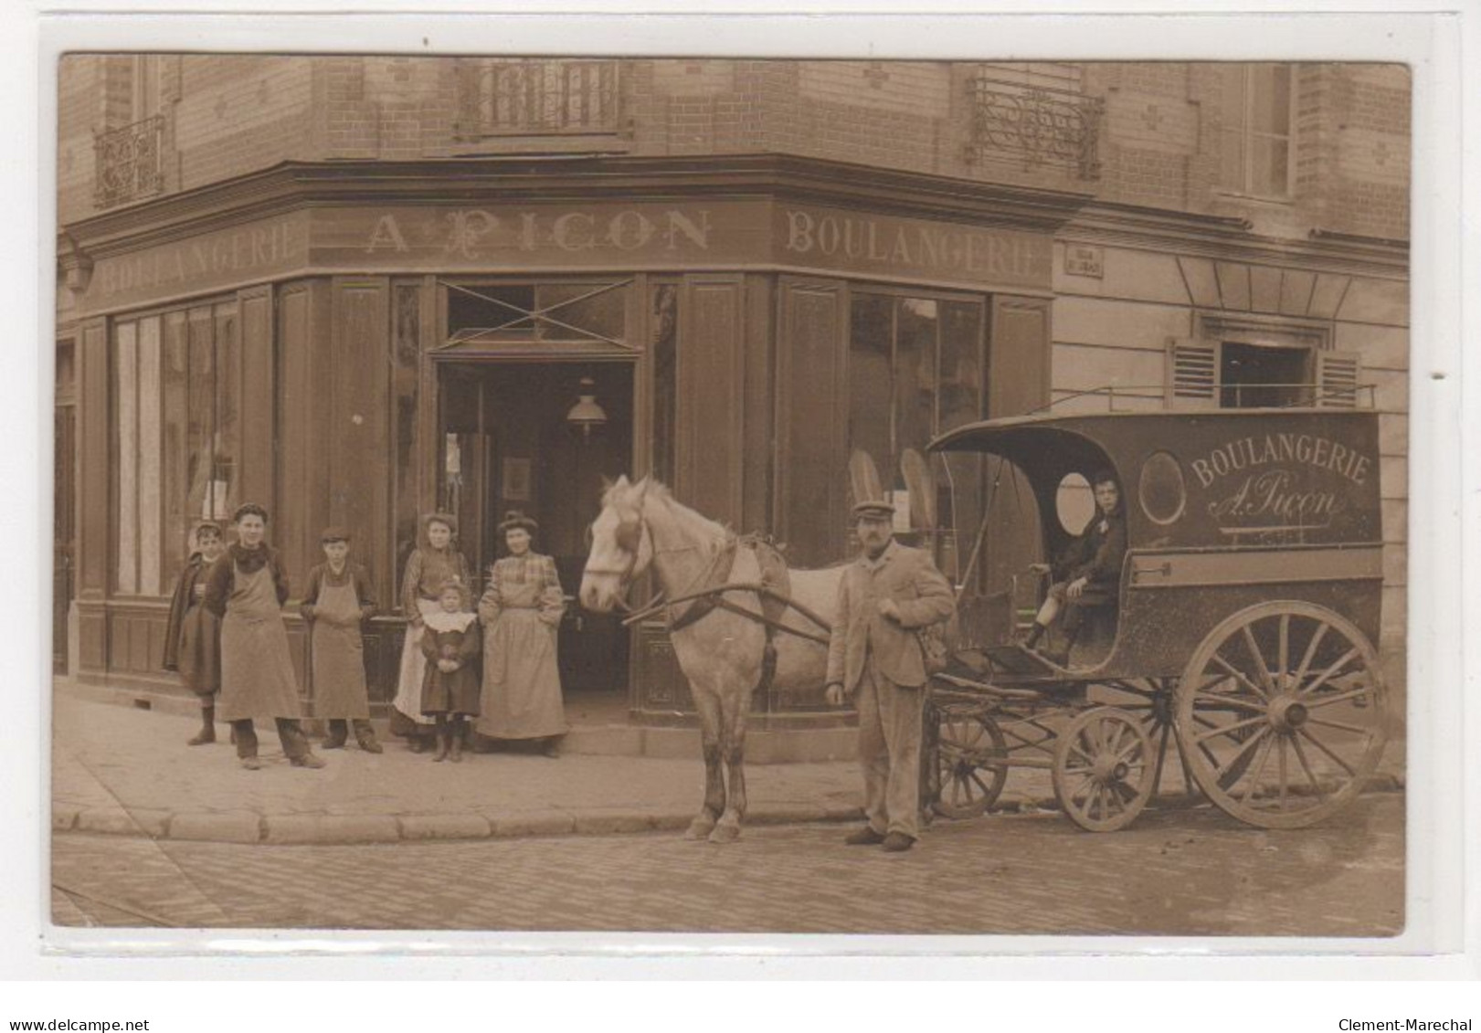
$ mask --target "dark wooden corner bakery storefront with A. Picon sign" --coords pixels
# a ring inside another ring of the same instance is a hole
[[[855,450],[889,487],[906,448],[1049,398],[1052,238],[1083,200],[769,157],[375,163],[67,226],[76,676],[179,691],[158,669],[173,579],[194,522],[246,500],[295,589],[321,527],[352,533],[382,610],[379,715],[422,512],[458,515],[478,570],[502,514],[530,514],[567,593],[619,474],[795,565],[843,559]],[[948,568],[985,493],[980,460],[960,462]],[[662,626],[572,605],[560,642],[567,693],[640,721],[690,709]]]

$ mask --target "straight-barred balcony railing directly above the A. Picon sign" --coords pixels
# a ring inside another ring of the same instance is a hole
[[[586,136],[622,130],[616,61],[489,61],[459,86],[458,136]]]

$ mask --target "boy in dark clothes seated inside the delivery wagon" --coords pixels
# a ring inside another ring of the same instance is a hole
[[[1040,638],[1059,620],[1063,639],[1060,648],[1043,650],[1040,654],[1060,667],[1069,663],[1069,651],[1084,627],[1086,610],[1108,607],[1114,613],[1121,590],[1121,564],[1126,559],[1121,485],[1109,469],[1096,471],[1090,485],[1096,499],[1090,522],[1060,553],[1057,562],[1032,567],[1038,573],[1052,573],[1053,585],[1023,645],[1038,651]]]

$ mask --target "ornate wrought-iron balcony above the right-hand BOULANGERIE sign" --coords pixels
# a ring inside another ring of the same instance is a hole
[[[988,75],[970,78],[967,96],[972,107],[967,164],[1006,158],[1028,167],[1069,169],[1080,179],[1100,178],[1105,101]]]

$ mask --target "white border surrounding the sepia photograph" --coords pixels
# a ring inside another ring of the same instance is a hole
[[[244,4],[210,3],[212,13],[129,13],[118,4],[73,4],[73,13],[37,12],[34,34],[21,33],[22,46],[34,53],[12,62],[4,73],[12,104],[12,123],[31,126],[36,133],[36,163],[10,170],[12,198],[40,201],[34,226],[18,234],[12,275],[6,290],[13,295],[7,311],[22,314],[18,327],[36,327],[34,367],[21,364],[25,376],[6,379],[4,406],[7,440],[15,447],[0,457],[7,484],[37,485],[34,512],[10,512],[6,522],[13,542],[34,543],[25,583],[37,586],[36,599],[49,598],[47,545],[50,537],[50,434],[52,369],[46,342],[55,323],[55,167],[56,167],[56,61],[71,50],[215,50],[215,52],[378,52],[378,53],[601,53],[613,56],[775,56],[775,58],[973,58],[1014,59],[1277,59],[1277,61],[1383,61],[1405,62],[1413,70],[1414,161],[1411,179],[1411,354],[1410,354],[1410,639],[1408,639],[1408,771],[1407,771],[1407,915],[1408,928],[1394,940],[1311,938],[1148,938],[1148,937],[815,937],[815,935],[652,935],[652,934],[395,934],[329,931],[117,931],[64,929],[47,922],[47,836],[44,780],[50,725],[50,666],[47,625],[40,605],[24,599],[4,601],[4,626],[18,629],[13,642],[28,642],[31,656],[6,656],[6,682],[31,685],[34,693],[15,691],[21,701],[13,721],[4,724],[0,775],[7,786],[0,818],[22,835],[7,838],[4,869],[15,873],[19,912],[6,921],[0,958],[30,962],[33,971],[86,971],[107,975],[120,960],[145,962],[145,968],[179,971],[184,963],[197,975],[240,974],[233,962],[246,958],[258,969],[267,965],[275,975],[357,978],[392,975],[395,963],[416,959],[419,975],[467,968],[469,959],[492,968],[558,962],[581,971],[604,963],[647,960],[677,968],[724,968],[755,972],[758,962],[779,960],[798,971],[849,971],[866,974],[875,965],[892,969],[911,960],[917,971],[985,975],[982,962],[992,960],[994,977],[1053,977],[1069,971],[1096,978],[1146,978],[1185,975],[1286,978],[1337,974],[1351,978],[1394,975],[1410,971],[1423,975],[1437,959],[1463,959],[1475,950],[1466,928],[1481,928],[1477,894],[1465,894],[1466,876],[1475,891],[1475,818],[1466,824],[1466,801],[1475,811],[1477,765],[1466,770],[1466,743],[1481,741],[1475,706],[1462,706],[1459,687],[1477,699],[1477,645],[1468,632],[1475,626],[1474,583],[1478,571],[1474,548],[1460,546],[1481,530],[1477,521],[1475,420],[1463,420],[1462,391],[1475,379],[1463,374],[1462,330],[1478,329],[1477,302],[1462,293],[1462,244],[1475,255],[1475,228],[1462,240],[1462,67],[1460,21],[1456,15],[1422,9],[1380,9],[1354,13],[1355,4],[1311,4],[1299,13],[1108,13],[1102,4],[1087,4],[1077,13],[886,13],[838,12],[798,15],[706,13],[612,13],[579,15],[499,12],[416,15],[392,13],[398,4],[360,0],[361,13],[293,13],[307,3],[259,3],[249,13]],[[446,3],[444,7],[458,7]],[[834,4],[828,4],[829,7]],[[1248,10],[1251,4],[1244,4]],[[512,7],[512,4],[505,4]],[[804,4],[791,4],[792,10]],[[812,9],[813,4],[806,4]],[[1271,4],[1275,7],[1275,4]],[[567,9],[569,10],[569,9]],[[376,12],[376,13],[366,13]],[[1155,31],[1149,31],[1155,27]],[[723,30],[723,31],[721,31]],[[983,40],[982,44],[972,40]],[[292,47],[284,47],[290,40]],[[34,73],[30,83],[16,81],[16,68]],[[1468,73],[1471,80],[1474,73]],[[1474,86],[1474,84],[1472,84]],[[1472,96],[1481,92],[1472,87]],[[37,104],[28,111],[27,98]],[[19,110],[16,110],[19,108]],[[39,115],[36,114],[39,112]],[[1474,147],[1474,139],[1471,141]],[[33,235],[34,234],[34,235]],[[1465,312],[1462,309],[1466,309]],[[36,312],[34,321],[24,314]],[[25,339],[22,332],[21,337]],[[25,352],[27,348],[16,349]],[[1474,349],[1469,361],[1475,363]],[[30,425],[25,422],[30,420]],[[1457,437],[1472,450],[1456,448]],[[37,466],[31,468],[30,463]],[[1468,468],[1469,466],[1469,468]],[[1463,508],[1469,512],[1462,514]],[[1465,519],[1465,522],[1463,522]],[[1462,565],[1456,551],[1462,551]],[[22,548],[24,553],[25,549]],[[1416,588],[1420,586],[1420,588]],[[1469,607],[1469,608],[1468,608]],[[1466,644],[1463,657],[1460,644]],[[1442,691],[1442,687],[1444,688]],[[1426,691],[1428,690],[1428,691]],[[34,707],[28,703],[34,701]],[[1465,736],[1465,738],[1462,737]],[[1471,869],[1465,848],[1469,836]],[[1465,901],[1465,909],[1459,904]],[[9,912],[16,901],[6,904]],[[27,913],[27,912],[31,913]],[[13,932],[19,932],[15,937]],[[40,953],[37,938],[40,937]],[[1475,935],[1474,932],[1471,934]],[[15,941],[13,941],[15,940]],[[21,946],[18,947],[16,943]],[[28,952],[34,958],[28,958]],[[184,960],[188,959],[188,960]],[[892,960],[895,959],[895,960]],[[308,966],[305,968],[305,963]],[[1462,962],[1463,963],[1463,962]],[[621,968],[621,965],[618,965]],[[1463,971],[1463,969],[1457,969]],[[268,974],[268,972],[264,972]],[[404,972],[403,972],[404,974]]]

